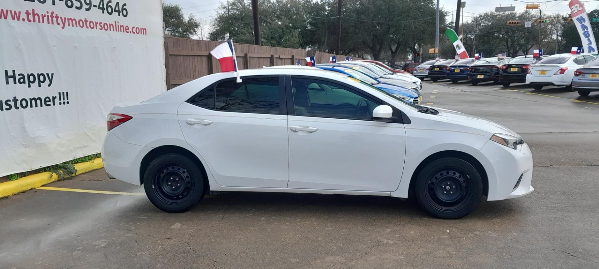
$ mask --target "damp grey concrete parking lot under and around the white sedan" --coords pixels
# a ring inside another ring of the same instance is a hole
[[[599,93],[428,81],[427,103],[519,132],[536,191],[458,220],[389,197],[235,192],[171,214],[96,170],[0,200],[0,268],[599,268]]]

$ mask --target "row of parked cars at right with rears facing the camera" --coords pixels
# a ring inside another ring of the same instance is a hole
[[[468,80],[472,85],[485,81],[501,82],[504,87],[526,83],[535,90],[549,85],[563,86],[567,90],[577,90],[581,96],[599,91],[599,59],[588,53],[433,60],[416,66],[413,75],[422,80],[430,78],[433,82]]]

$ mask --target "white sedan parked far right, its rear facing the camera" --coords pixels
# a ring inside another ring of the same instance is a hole
[[[594,59],[595,56],[588,53],[553,54],[528,68],[526,83],[533,85],[535,90],[541,90],[543,86],[565,86],[571,91],[574,71]]]

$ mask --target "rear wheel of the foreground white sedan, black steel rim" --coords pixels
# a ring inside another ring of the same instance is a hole
[[[144,172],[148,199],[165,212],[186,212],[202,200],[206,187],[198,164],[181,154],[156,157]]]

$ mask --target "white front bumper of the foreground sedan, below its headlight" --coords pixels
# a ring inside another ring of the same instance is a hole
[[[533,155],[527,143],[515,150],[489,140],[474,157],[487,174],[488,201],[521,197],[534,191]]]

